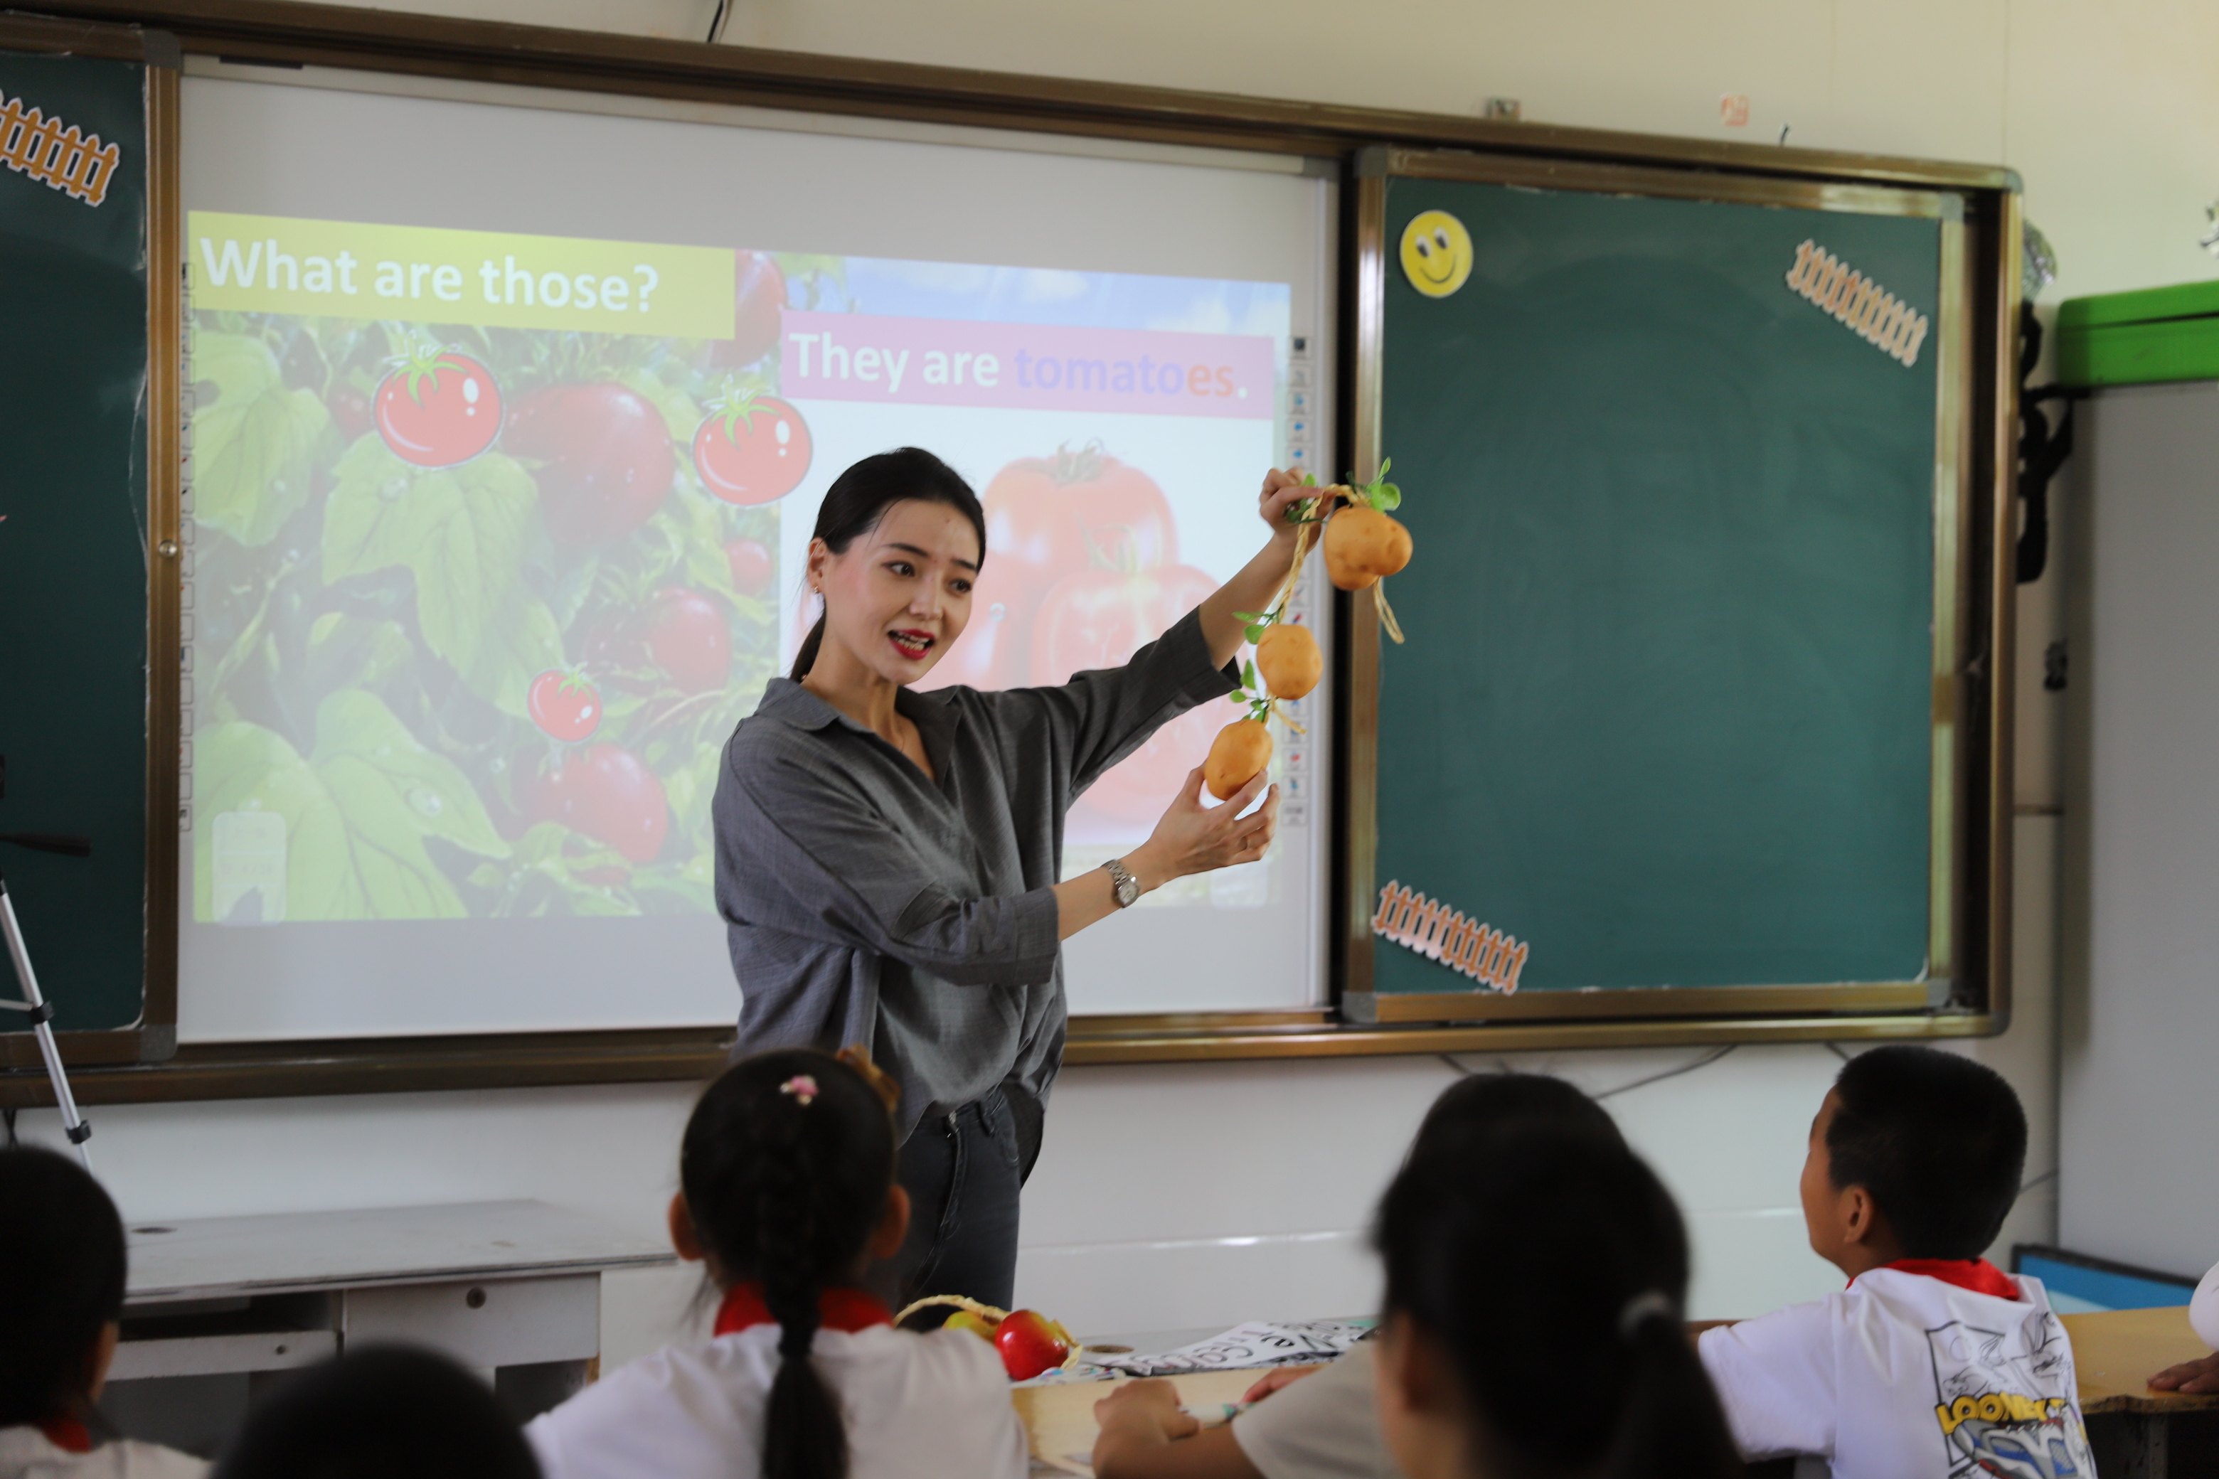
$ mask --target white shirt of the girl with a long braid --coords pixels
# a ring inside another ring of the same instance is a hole
[[[817,1370],[848,1412],[848,1479],[1025,1479],[1010,1375],[963,1330],[817,1333]],[[663,1346],[601,1377],[524,1437],[546,1479],[750,1479],[779,1326]]]

